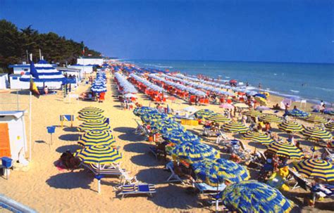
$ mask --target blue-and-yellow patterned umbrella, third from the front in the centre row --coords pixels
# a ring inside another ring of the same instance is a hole
[[[220,153],[204,143],[180,143],[171,151],[172,155],[190,164],[200,160],[218,158]]]

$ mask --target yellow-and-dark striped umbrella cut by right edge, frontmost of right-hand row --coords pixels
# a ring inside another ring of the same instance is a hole
[[[322,159],[306,159],[296,164],[299,174],[318,178],[324,181],[334,181],[334,165]]]

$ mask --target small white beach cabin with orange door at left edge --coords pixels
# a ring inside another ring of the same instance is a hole
[[[24,111],[0,111],[0,157],[24,160],[27,152]]]

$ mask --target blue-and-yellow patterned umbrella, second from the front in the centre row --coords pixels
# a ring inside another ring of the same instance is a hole
[[[199,161],[192,164],[192,168],[197,177],[210,186],[218,186],[225,180],[239,183],[250,178],[246,167],[222,158]]]

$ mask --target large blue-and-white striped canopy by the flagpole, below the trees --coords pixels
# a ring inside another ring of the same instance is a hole
[[[39,61],[36,65],[30,63],[30,72],[25,72],[20,77],[20,82],[30,82],[30,78],[34,80],[38,87],[48,86],[53,89],[60,89],[61,84],[66,82],[66,77],[61,71],[56,70],[51,64],[45,60]]]

